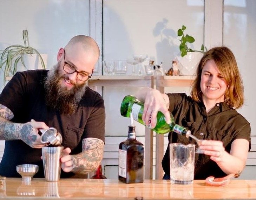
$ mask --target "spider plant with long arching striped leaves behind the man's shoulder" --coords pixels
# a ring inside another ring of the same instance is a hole
[[[45,69],[45,63],[40,53],[33,47],[29,46],[28,31],[23,30],[22,36],[24,46],[15,44],[7,47],[4,49],[4,51],[2,51],[2,53],[0,53],[0,69],[4,70],[4,83],[7,76],[14,75],[17,72],[17,65],[19,62],[21,62],[22,65],[27,68],[23,58],[25,54],[30,54],[31,56],[32,54],[37,54],[40,59],[42,68]]]

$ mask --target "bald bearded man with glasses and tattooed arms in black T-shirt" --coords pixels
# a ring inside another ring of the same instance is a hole
[[[51,70],[17,72],[0,94],[0,139],[5,151],[0,175],[20,177],[16,166],[36,164],[44,178],[39,129],[55,127],[63,137],[61,178],[84,178],[103,158],[103,98],[87,87],[99,58],[97,43],[73,37],[60,48]]]

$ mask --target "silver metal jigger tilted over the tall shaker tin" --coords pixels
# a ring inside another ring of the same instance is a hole
[[[50,143],[53,145],[60,145],[62,143],[62,136],[54,127],[50,127],[49,129],[39,129],[39,131],[42,133],[41,143]]]

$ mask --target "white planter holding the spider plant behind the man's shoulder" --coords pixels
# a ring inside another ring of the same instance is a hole
[[[42,59],[45,63],[45,67],[47,64],[48,55],[47,54],[40,54]],[[33,70],[33,69],[43,69],[41,65],[40,58],[37,54],[25,54],[23,56],[23,61],[26,67],[20,64],[17,67],[17,71],[26,71],[26,70]]]

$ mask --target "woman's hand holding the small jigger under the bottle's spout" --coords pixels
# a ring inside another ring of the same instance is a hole
[[[211,156],[210,158],[215,162],[223,161],[226,153],[223,142],[217,140],[202,140],[199,146],[204,151],[205,155]]]

